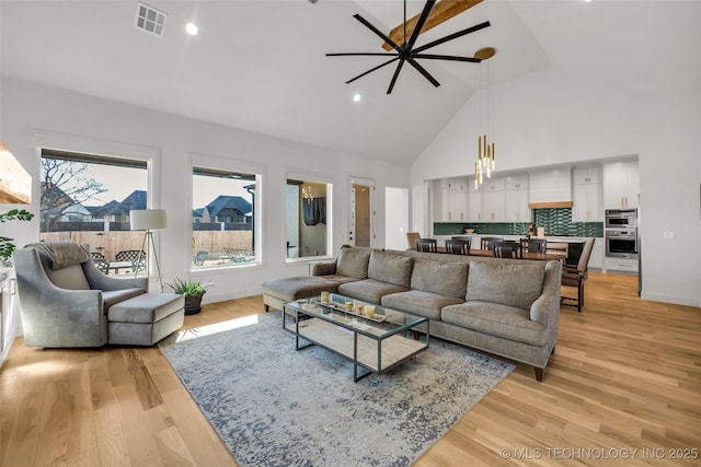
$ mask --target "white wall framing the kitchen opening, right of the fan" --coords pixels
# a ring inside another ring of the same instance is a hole
[[[701,306],[699,114],[667,105],[665,90],[629,95],[590,78],[550,69],[495,86],[496,168],[639,155],[642,296]],[[412,165],[413,227],[427,225],[424,179],[471,174],[475,117],[469,102]],[[456,165],[464,171],[456,172]],[[663,240],[665,230],[675,231],[676,238]]]

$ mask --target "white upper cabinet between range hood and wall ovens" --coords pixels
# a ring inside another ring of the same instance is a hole
[[[572,221],[604,222],[601,166],[572,170]]]

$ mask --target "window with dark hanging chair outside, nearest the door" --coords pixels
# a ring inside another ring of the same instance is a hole
[[[326,256],[331,250],[331,183],[287,178],[288,260]]]

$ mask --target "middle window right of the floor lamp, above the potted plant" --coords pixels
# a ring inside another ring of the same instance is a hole
[[[257,180],[255,174],[193,167],[193,268],[260,262]]]

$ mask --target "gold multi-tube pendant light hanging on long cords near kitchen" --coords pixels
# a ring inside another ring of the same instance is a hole
[[[492,172],[496,166],[496,145],[490,141],[492,137],[492,86],[491,86],[491,62],[496,49],[484,47],[474,52],[474,58],[479,58],[478,66],[478,159],[474,162],[474,189],[479,189],[484,182],[484,175],[492,178]]]

